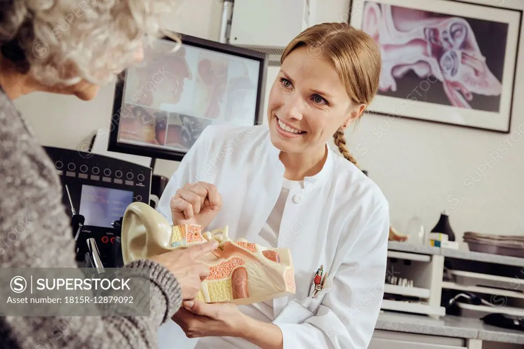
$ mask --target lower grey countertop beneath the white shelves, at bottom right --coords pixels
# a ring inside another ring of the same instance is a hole
[[[524,331],[506,330],[486,325],[478,319],[454,315],[436,320],[423,315],[382,311],[375,329],[524,344]]]

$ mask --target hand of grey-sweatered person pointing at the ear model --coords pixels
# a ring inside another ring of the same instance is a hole
[[[182,291],[182,299],[192,299],[198,295],[200,284],[209,275],[209,266],[199,258],[216,249],[218,243],[211,240],[184,249],[151,257],[151,260],[166,267],[177,278]]]

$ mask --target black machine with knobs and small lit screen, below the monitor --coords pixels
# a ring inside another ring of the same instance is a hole
[[[44,148],[62,182],[77,261],[118,267],[122,217],[135,201],[149,204],[151,168],[91,152]]]

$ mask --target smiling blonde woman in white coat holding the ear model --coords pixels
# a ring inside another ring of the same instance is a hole
[[[174,224],[228,225],[232,239],[290,249],[296,294],[238,307],[185,302],[176,324],[161,328],[162,349],[179,347],[170,338],[179,326],[198,349],[367,348],[384,293],[389,206],[357,168],[344,129],[372,101],[379,74],[371,37],[342,23],[316,25],[282,54],[268,126],[204,129],[158,211]],[[321,265],[328,276],[313,298]]]

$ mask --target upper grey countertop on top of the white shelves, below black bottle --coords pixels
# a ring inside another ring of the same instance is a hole
[[[462,244],[465,245],[465,244]],[[467,246],[467,245],[465,245]],[[441,255],[449,258],[478,260],[487,263],[504,264],[517,267],[524,267],[524,258],[494,255],[490,253],[472,252],[470,250],[440,248],[433,246],[414,245],[406,242],[389,241],[388,249],[394,251],[420,253],[428,255]]]

